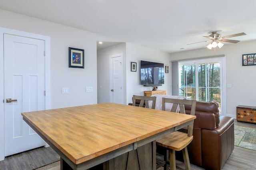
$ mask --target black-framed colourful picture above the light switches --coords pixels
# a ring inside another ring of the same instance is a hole
[[[68,67],[84,68],[84,50],[68,48]]]

